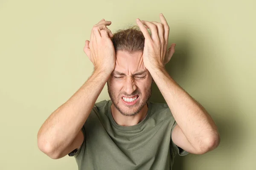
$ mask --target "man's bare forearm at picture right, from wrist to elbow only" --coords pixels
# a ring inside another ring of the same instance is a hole
[[[193,147],[200,150],[209,140],[218,137],[217,127],[207,111],[165,69],[154,69],[151,72],[175,121]]]

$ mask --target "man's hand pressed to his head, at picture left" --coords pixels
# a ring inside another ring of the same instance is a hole
[[[84,52],[94,65],[95,71],[111,74],[116,64],[116,53],[111,37],[113,34],[107,28],[111,21],[102,19],[93,26],[90,41],[85,41]]]

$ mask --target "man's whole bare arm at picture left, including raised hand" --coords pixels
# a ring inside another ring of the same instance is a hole
[[[52,159],[61,158],[79,148],[84,141],[81,131],[99,94],[115,68],[115,49],[107,26],[102,19],[93,26],[90,41],[85,41],[84,52],[93,62],[92,76],[63,105],[56,109],[38,131],[38,147]]]

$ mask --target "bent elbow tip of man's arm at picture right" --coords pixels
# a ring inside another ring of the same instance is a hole
[[[211,150],[214,150],[220,144],[221,138],[218,133],[204,138],[199,146],[198,154],[205,154]]]

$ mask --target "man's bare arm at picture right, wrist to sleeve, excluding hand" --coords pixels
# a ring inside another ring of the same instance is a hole
[[[203,154],[215,149],[220,141],[217,126],[207,111],[184,91],[163,68],[151,71],[177,125],[173,142],[184,150]]]

